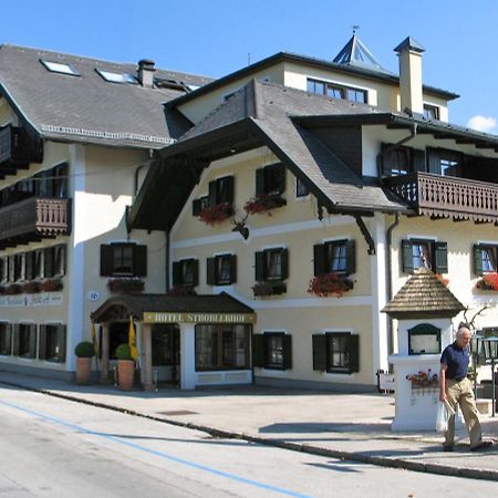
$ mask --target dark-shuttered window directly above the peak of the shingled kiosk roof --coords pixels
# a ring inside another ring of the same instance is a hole
[[[403,240],[402,259],[405,273],[411,273],[421,267],[426,267],[436,273],[447,273],[448,245],[435,240]]]

